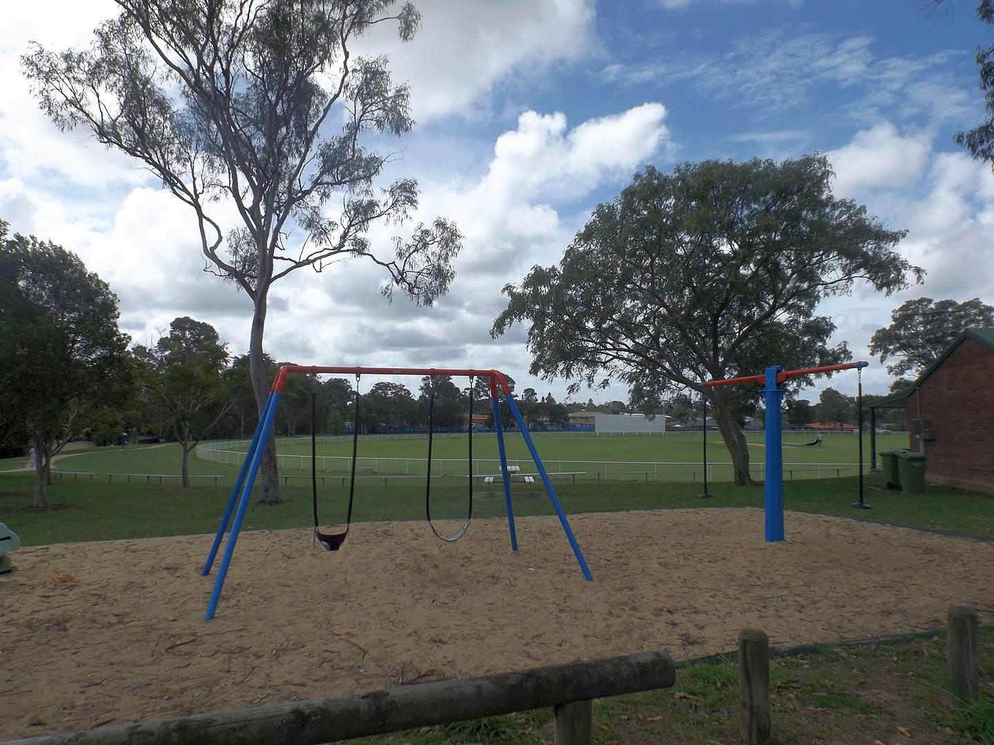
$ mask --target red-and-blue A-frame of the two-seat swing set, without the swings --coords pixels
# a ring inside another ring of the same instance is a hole
[[[518,550],[518,538],[514,525],[514,508],[511,502],[511,477],[507,467],[507,457],[504,449],[504,425],[501,420],[499,402],[501,395],[504,396],[504,400],[511,409],[514,420],[518,425],[518,430],[525,438],[525,444],[527,445],[528,451],[532,456],[532,460],[535,462],[535,467],[538,470],[539,476],[542,477],[542,483],[545,485],[546,493],[549,495],[549,499],[553,503],[553,507],[556,509],[556,515],[559,516],[560,523],[563,525],[563,531],[566,533],[567,539],[570,541],[570,545],[573,548],[574,555],[577,557],[577,562],[580,564],[580,571],[582,571],[583,577],[588,582],[593,581],[590,570],[586,566],[586,561],[583,559],[582,551],[580,551],[580,544],[577,542],[573,529],[570,527],[570,522],[567,520],[566,513],[563,512],[563,507],[560,504],[559,498],[556,496],[556,490],[553,488],[552,482],[549,479],[549,474],[546,471],[545,466],[542,464],[542,459],[539,457],[538,451],[535,449],[535,443],[532,441],[532,437],[528,432],[528,427],[525,424],[524,417],[521,415],[521,410],[518,408],[518,404],[515,402],[514,396],[511,394],[511,387],[508,385],[507,378],[504,373],[497,370],[472,369],[337,368],[284,365],[279,369],[279,372],[276,373],[272,387],[269,389],[269,396],[266,399],[265,407],[262,409],[262,415],[259,417],[258,426],[255,427],[251,444],[248,446],[248,453],[246,454],[245,462],[242,465],[242,471],[239,473],[239,477],[235,483],[235,488],[232,490],[232,495],[228,501],[228,507],[225,510],[225,515],[221,520],[221,525],[218,527],[218,533],[214,538],[214,544],[211,546],[211,551],[207,557],[207,561],[204,564],[204,569],[201,572],[203,576],[210,574],[211,567],[218,555],[218,550],[221,547],[225,532],[228,530],[228,523],[232,522],[232,515],[234,513],[235,520],[232,522],[231,532],[229,533],[228,541],[225,544],[225,551],[221,559],[221,565],[218,569],[218,576],[214,582],[214,589],[208,603],[207,613],[204,615],[205,620],[210,621],[214,618],[215,612],[217,611],[218,602],[221,599],[221,591],[225,585],[225,577],[228,574],[228,567],[231,563],[232,555],[235,552],[235,545],[238,541],[239,531],[242,529],[242,522],[245,518],[246,509],[248,507],[248,498],[255,483],[255,476],[258,473],[259,464],[261,463],[265,442],[269,436],[269,432],[272,430],[272,423],[276,415],[276,408],[279,405],[280,396],[283,392],[283,385],[286,381],[286,376],[291,373],[352,374],[356,376],[357,380],[364,374],[428,375],[432,377],[437,375],[447,375],[450,377],[468,376],[470,379],[475,377],[487,378],[490,386],[490,401],[493,407],[494,427],[497,433],[497,449],[500,454],[500,471],[504,482],[504,500],[507,505],[507,521],[508,529],[511,534],[511,549],[514,551]]]

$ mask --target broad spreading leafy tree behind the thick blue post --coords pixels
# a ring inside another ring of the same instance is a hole
[[[845,362],[830,348],[827,295],[857,280],[891,293],[917,279],[888,230],[866,208],[835,199],[822,156],[782,163],[709,161],[663,174],[647,167],[594,211],[558,266],[537,266],[504,292],[492,335],[530,323],[531,373],[574,378],[573,390],[606,373],[633,400],[671,386]],[[754,386],[707,388],[737,484],[751,483],[740,429]]]

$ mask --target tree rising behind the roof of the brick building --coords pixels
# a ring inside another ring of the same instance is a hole
[[[918,374],[935,362],[952,340],[971,326],[994,326],[994,306],[973,298],[962,303],[919,297],[891,313],[891,325],[870,340],[870,354],[898,360],[887,372],[900,377]]]

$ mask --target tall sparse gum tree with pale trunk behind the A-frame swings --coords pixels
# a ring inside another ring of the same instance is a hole
[[[369,135],[403,135],[409,90],[386,58],[353,57],[378,24],[409,41],[419,15],[394,0],[115,0],[120,14],[87,50],[34,45],[21,59],[42,109],[63,130],[82,127],[138,160],[197,218],[205,268],[252,302],[249,359],[256,406],[265,403],[262,341],[269,289],[303,267],[342,259],[381,266],[383,293],[420,305],[447,291],[461,246],[436,218],[375,250],[371,225],[403,224],[417,184],[377,186],[390,153]],[[334,210],[330,205],[334,203]],[[228,215],[234,209],[235,224]],[[262,462],[261,501],[278,502],[274,441]]]

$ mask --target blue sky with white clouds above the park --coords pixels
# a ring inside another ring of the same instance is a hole
[[[924,283],[890,297],[857,284],[829,298],[864,392],[887,392],[873,333],[904,301],[994,304],[994,177],[958,147],[984,116],[974,54],[994,27],[976,0],[418,0],[414,40],[377,33],[412,91],[414,130],[388,144],[386,186],[414,177],[416,220],[464,235],[449,293],[429,308],[382,297],[370,263],[302,269],[273,285],[266,352],[298,365],[495,368],[563,400],[567,380],[528,373],[527,328],[491,339],[501,289],[562,258],[595,207],[646,164],[826,155],[833,193],[892,229]],[[119,298],[120,328],[150,344],[190,316],[248,351],[251,302],[204,271],[196,219],[122,154],[60,132],[20,69],[29,42],[85,47],[112,0],[6,3],[0,35],[0,219],[74,251]],[[393,231],[392,231],[393,230]],[[390,252],[398,231],[372,237]],[[777,361],[771,360],[775,365]],[[761,371],[755,371],[761,373]],[[845,373],[844,373],[845,374]],[[821,379],[855,395],[853,376]],[[375,381],[375,380],[374,380]],[[396,378],[416,390],[414,379]],[[364,387],[367,383],[364,378]],[[623,386],[576,399],[624,399]]]

